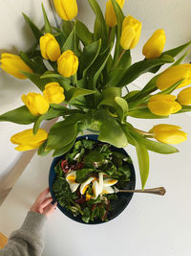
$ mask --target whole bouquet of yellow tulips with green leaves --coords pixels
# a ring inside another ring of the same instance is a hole
[[[148,151],[177,152],[172,144],[186,140],[186,133],[166,124],[143,131],[127,122],[127,117],[159,119],[191,110],[191,87],[181,90],[178,97],[172,95],[191,83],[191,64],[180,64],[185,54],[174,59],[191,42],[162,52],[165,34],[157,30],[143,46],[145,58],[132,64],[131,50],[138,44],[140,21],[123,14],[124,0],[109,0],[105,15],[96,0],[87,1],[96,14],[94,32],[75,18],[75,0],[53,1],[62,18],[59,28],[50,24],[43,6],[42,29],[24,14],[36,43],[30,52],[19,56],[2,54],[1,68],[18,79],[31,80],[39,93],[23,94],[24,105],[2,114],[0,121],[33,123],[32,129],[11,137],[17,151],[38,148],[40,155],[50,151],[53,156],[61,155],[87,128],[98,131],[99,141],[118,148],[132,144],[138,152],[144,188],[149,174]],[[171,65],[141,90],[122,90],[142,74],[155,74],[168,63]],[[61,119],[49,132],[40,128],[44,120],[57,117]]]

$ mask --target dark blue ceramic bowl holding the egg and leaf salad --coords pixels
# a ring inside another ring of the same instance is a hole
[[[97,135],[88,134],[88,135],[77,137],[76,141],[84,139],[84,138],[88,138],[89,140],[97,141],[97,137],[98,137]],[[112,146],[110,149],[113,150],[113,151],[119,151],[119,152],[123,153],[124,155],[128,156],[128,153],[126,151],[124,151],[123,149],[118,149],[114,146]],[[56,198],[53,194],[53,182],[54,182],[54,179],[56,177],[56,174],[54,172],[54,166],[61,159],[64,159],[64,154],[61,155],[61,156],[53,158],[53,163],[51,165],[50,174],[49,174],[49,187],[50,187],[50,192],[51,192],[51,195],[53,197],[53,200],[56,200]],[[133,164],[129,164],[129,167],[130,167],[130,170],[131,170],[131,180],[127,183],[127,186],[124,187],[123,189],[133,190],[133,189],[135,189],[135,186],[136,186],[136,175],[135,175],[135,170],[134,170]],[[127,207],[131,198],[133,197],[133,193],[118,193],[117,197],[118,197],[117,200],[112,200],[111,201],[111,206],[112,206],[113,210],[108,213],[108,220],[109,221],[115,219]],[[57,207],[59,208],[59,210],[64,215],[66,215],[68,218],[72,219],[73,221],[77,221],[77,222],[80,222],[80,223],[83,223],[83,224],[104,223],[104,221],[100,221],[100,220],[89,221],[89,223],[85,223],[84,221],[81,220],[80,215],[74,217],[74,215],[70,211],[68,211],[66,208],[62,207],[61,205],[59,205],[59,203],[57,204]]]

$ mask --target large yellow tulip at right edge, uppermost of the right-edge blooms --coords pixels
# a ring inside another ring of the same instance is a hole
[[[184,81],[181,81],[178,88],[191,83],[191,64],[180,64],[166,69],[159,76],[156,85],[163,91],[182,79]]]

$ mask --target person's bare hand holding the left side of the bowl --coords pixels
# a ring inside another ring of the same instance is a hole
[[[46,217],[50,217],[56,209],[57,202],[53,204],[53,198],[47,198],[49,192],[49,188],[46,188],[46,190],[41,192],[38,198],[36,198],[34,203],[32,204],[30,211],[43,214]]]

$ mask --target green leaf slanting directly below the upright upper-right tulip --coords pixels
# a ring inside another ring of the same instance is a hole
[[[106,87],[117,86],[118,81],[122,79],[127,69],[131,66],[131,61],[130,50],[125,51],[117,67],[108,74]]]

